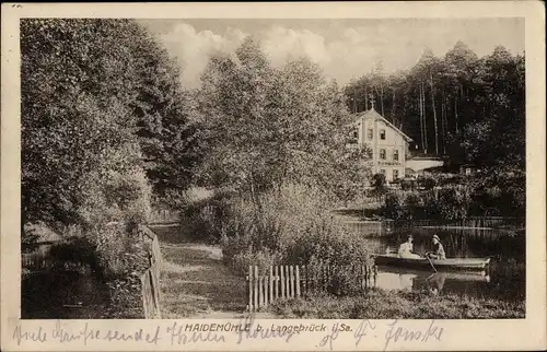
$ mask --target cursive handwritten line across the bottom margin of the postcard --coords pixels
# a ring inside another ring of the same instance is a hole
[[[18,324],[12,339],[18,345],[32,343],[79,343],[88,345],[97,341],[137,342],[147,345],[187,345],[187,344],[217,344],[235,342],[242,344],[251,340],[270,340],[289,343],[295,337],[321,337],[316,348],[335,349],[335,341],[341,336],[342,340],[353,339],[356,347],[363,345],[363,341],[372,342],[380,339],[384,351],[395,344],[405,342],[427,343],[430,340],[441,341],[444,328],[435,320],[423,321],[421,329],[416,329],[416,322],[395,319],[387,325],[379,325],[373,320],[363,319],[359,322],[326,322],[302,320],[296,324],[283,324],[282,320],[255,320],[249,315],[238,321],[219,322],[159,321],[143,328],[107,329],[94,326],[93,322],[67,324],[57,320],[54,326],[34,325],[32,328]],[[315,340],[317,341],[317,340]]]

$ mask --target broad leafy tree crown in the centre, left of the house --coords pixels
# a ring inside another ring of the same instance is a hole
[[[248,37],[234,56],[211,58],[198,96],[210,155],[205,185],[245,191],[256,207],[260,192],[284,184],[324,187],[344,200],[356,187],[344,97],[310,60],[275,69]]]

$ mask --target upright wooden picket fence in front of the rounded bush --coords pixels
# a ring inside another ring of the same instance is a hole
[[[361,289],[370,288],[376,279],[377,268],[372,265],[356,265],[335,268],[317,266],[269,266],[267,272],[260,272],[258,266],[248,267],[247,292],[248,310],[267,307],[279,298],[298,298],[312,292],[328,291],[339,270],[349,272],[354,283]]]

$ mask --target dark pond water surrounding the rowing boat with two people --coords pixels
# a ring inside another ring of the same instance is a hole
[[[470,228],[392,230],[379,236],[366,236],[371,250],[396,253],[398,246],[414,236],[414,251],[431,250],[431,237],[441,238],[446,257],[491,258],[485,272],[434,273],[431,270],[379,267],[376,286],[384,290],[429,290],[438,294],[466,294],[474,297],[523,301],[525,297],[525,245],[523,234],[510,231]]]

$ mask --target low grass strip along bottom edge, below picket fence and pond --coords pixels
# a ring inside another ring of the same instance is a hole
[[[268,312],[295,319],[503,319],[524,318],[524,301],[372,290],[360,297],[318,295],[275,302]]]

